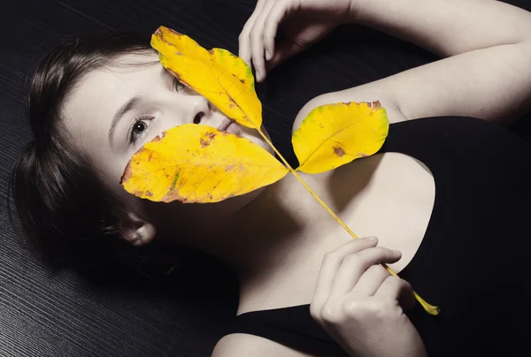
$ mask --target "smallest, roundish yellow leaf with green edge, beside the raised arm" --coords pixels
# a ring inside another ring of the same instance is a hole
[[[380,102],[321,105],[293,133],[297,171],[329,171],[358,157],[373,155],[388,132],[387,112]]]

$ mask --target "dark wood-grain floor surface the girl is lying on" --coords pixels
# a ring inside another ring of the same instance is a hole
[[[512,4],[531,10],[530,0]],[[95,286],[47,270],[15,239],[6,182],[30,140],[22,109],[27,72],[65,36],[108,28],[152,33],[165,25],[204,47],[237,53],[252,0],[0,0],[0,356],[210,356],[235,314],[228,273],[204,268],[157,287]],[[361,27],[342,27],[258,86],[273,141],[293,160],[293,119],[314,96],[424,65],[437,57]],[[531,64],[530,64],[531,65]],[[527,124],[526,124],[527,123]],[[531,138],[530,120],[516,130]],[[199,283],[194,283],[194,281]]]

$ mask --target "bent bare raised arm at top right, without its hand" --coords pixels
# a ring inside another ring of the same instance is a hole
[[[355,3],[352,3],[355,4]],[[307,103],[380,100],[391,122],[470,116],[510,123],[531,109],[531,13],[493,0],[358,0],[352,20],[450,56]]]

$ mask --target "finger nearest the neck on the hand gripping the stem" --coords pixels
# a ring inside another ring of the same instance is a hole
[[[375,237],[353,239],[323,257],[312,303],[310,304],[310,313],[314,318],[319,316],[321,308],[327,301],[334,284],[335,274],[342,265],[344,258],[349,254],[355,254],[369,247],[374,247],[376,244],[378,244],[378,239]]]

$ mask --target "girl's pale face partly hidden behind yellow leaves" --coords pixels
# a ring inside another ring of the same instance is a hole
[[[181,232],[201,234],[209,231],[207,226],[215,229],[227,221],[258,194],[213,204],[155,204],[119,186],[131,156],[159,133],[188,123],[227,126],[227,117],[165,71],[155,53],[124,55],[112,67],[89,72],[66,97],[62,115],[74,145],[118,199],[144,220],[163,224],[170,218],[179,222]],[[255,130],[239,125],[238,134],[271,152]]]

